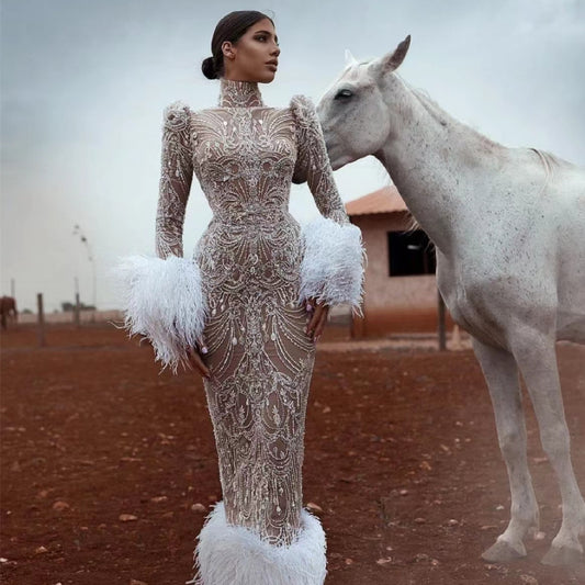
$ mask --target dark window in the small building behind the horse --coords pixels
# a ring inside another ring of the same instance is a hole
[[[435,246],[423,229],[389,232],[389,275],[435,274]]]

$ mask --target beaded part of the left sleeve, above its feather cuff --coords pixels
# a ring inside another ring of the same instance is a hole
[[[189,106],[180,101],[164,112],[156,254],[183,256],[183,222],[193,179]]]

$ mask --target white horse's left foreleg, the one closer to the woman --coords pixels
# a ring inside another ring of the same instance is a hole
[[[511,492],[510,521],[496,542],[483,554],[492,562],[505,562],[526,555],[524,538],[538,530],[539,509],[526,454],[526,424],[518,367],[511,353],[473,339],[494,406],[497,438]]]

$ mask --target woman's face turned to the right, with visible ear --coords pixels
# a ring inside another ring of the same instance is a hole
[[[269,19],[252,24],[237,43],[226,41],[222,50],[225,78],[261,83],[274,79],[280,48],[274,25]]]

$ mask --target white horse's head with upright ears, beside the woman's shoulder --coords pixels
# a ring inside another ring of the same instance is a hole
[[[394,52],[363,63],[346,50],[346,68],[317,103],[334,170],[375,154],[391,139],[393,71],[409,45],[410,35]]]

